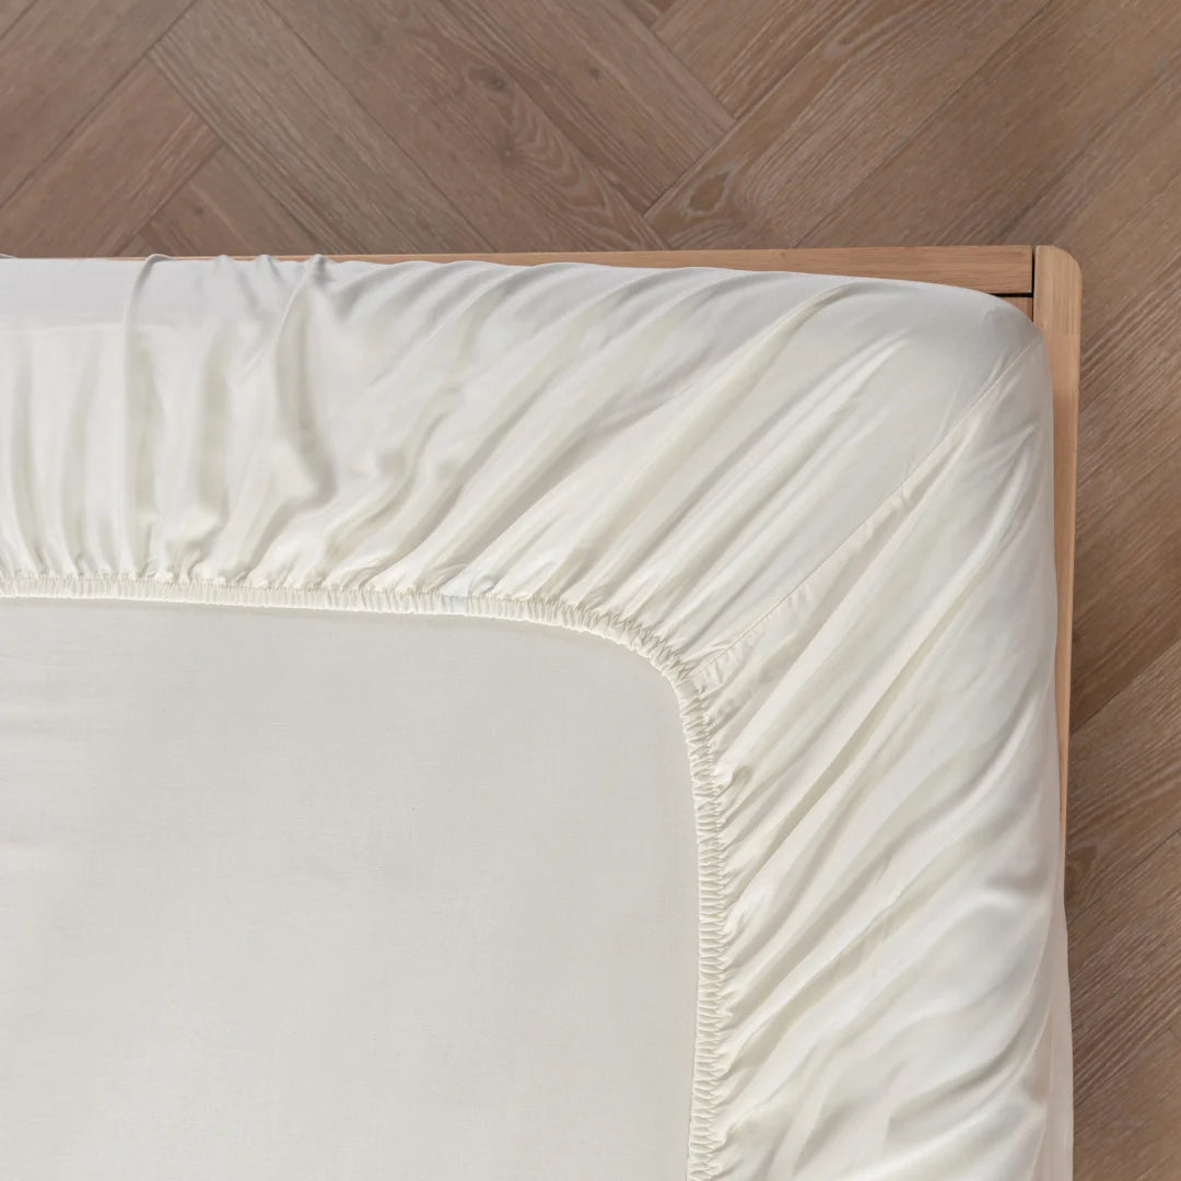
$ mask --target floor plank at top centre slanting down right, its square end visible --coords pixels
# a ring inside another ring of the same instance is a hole
[[[668,47],[620,5],[448,4],[638,209],[647,209],[733,124]]]

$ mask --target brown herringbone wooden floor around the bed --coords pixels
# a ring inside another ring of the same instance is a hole
[[[1077,1176],[1181,1177],[1181,4],[0,0],[0,250],[1053,242]]]

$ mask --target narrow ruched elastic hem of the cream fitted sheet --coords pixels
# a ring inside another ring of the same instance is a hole
[[[644,657],[677,696],[689,749],[697,833],[698,952],[697,1029],[693,1046],[692,1108],[686,1181],[716,1181],[719,1137],[719,1046],[723,988],[725,892],[722,843],[722,787],[705,707],[691,670],[657,633],[632,620],[560,599],[445,595],[328,586],[266,586],[125,574],[18,574],[0,579],[0,598],[117,599],[229,607],[288,607],[399,615],[466,615],[565,627],[598,635]]]

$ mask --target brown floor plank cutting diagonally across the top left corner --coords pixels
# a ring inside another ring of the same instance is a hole
[[[190,0],[38,0],[0,40],[0,203]],[[14,11],[14,9],[12,9]]]

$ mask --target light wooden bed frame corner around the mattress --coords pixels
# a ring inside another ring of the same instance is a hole
[[[1078,470],[1078,358],[1082,275],[1053,246],[852,247],[802,250],[638,250],[575,254],[374,254],[334,255],[370,262],[484,259],[515,266],[595,262],[619,267],[726,267],[802,270],[875,279],[911,279],[972,287],[997,295],[1029,315],[1045,337],[1053,385],[1053,534],[1058,575],[1055,680],[1062,828],[1066,827],[1066,758],[1070,746],[1070,646],[1075,590],[1075,484]]]

